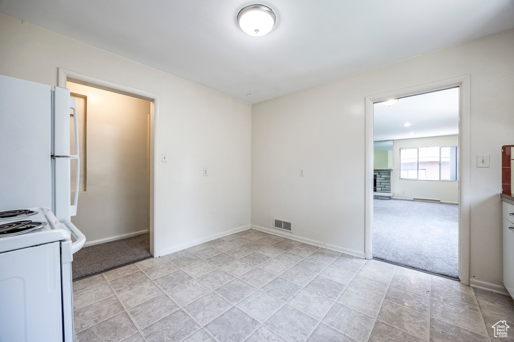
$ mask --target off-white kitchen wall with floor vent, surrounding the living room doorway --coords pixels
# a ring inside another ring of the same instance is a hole
[[[501,146],[514,132],[514,30],[252,105],[252,225],[291,219],[295,235],[363,255],[365,96],[465,74],[470,277],[501,286]],[[490,167],[476,168],[476,154],[490,154]]]

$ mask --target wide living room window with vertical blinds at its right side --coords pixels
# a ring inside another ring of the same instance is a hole
[[[458,147],[401,148],[400,179],[458,180]]]

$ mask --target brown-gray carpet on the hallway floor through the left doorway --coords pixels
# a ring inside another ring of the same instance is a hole
[[[73,255],[73,278],[103,272],[150,256],[150,234],[83,247]]]

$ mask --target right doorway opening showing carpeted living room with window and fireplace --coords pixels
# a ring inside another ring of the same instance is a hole
[[[373,103],[373,258],[459,278],[460,88]]]

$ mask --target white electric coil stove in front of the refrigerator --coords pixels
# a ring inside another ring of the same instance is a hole
[[[73,341],[71,261],[85,242],[48,208],[0,212],[0,340]]]

